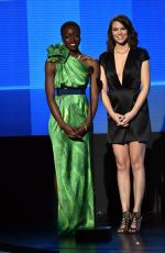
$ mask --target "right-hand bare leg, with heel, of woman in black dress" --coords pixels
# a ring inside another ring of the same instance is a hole
[[[139,142],[130,143],[131,167],[133,173],[133,194],[134,207],[132,213],[132,223],[129,232],[135,233],[141,228],[141,205],[145,188],[145,172],[144,172],[144,155],[145,144]]]

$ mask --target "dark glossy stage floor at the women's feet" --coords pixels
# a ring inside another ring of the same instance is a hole
[[[140,234],[117,234],[112,228],[109,241],[76,242],[74,238],[58,240],[51,229],[1,229],[0,252],[59,252],[59,253],[143,253],[165,252],[165,222],[145,221]]]

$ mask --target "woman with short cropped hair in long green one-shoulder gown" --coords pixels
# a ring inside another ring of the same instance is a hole
[[[62,25],[63,44],[51,45],[45,64],[45,90],[51,110],[58,197],[58,234],[94,228],[91,124],[98,105],[99,64],[80,53],[80,28]],[[90,79],[90,101],[86,88]]]

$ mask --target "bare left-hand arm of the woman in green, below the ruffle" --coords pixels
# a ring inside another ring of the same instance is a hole
[[[57,121],[61,129],[65,131],[65,133],[74,138],[76,136],[76,132],[74,128],[66,124],[62,118],[59,108],[55,101],[55,87],[54,87],[54,77],[55,77],[55,65],[52,63],[45,63],[45,91],[46,91],[46,99],[50,107],[50,110]]]

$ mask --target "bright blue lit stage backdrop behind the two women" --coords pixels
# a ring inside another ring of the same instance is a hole
[[[152,130],[165,131],[165,1],[0,0],[0,136],[47,134],[44,63],[47,46],[61,41],[61,25],[78,22],[81,51],[98,58],[107,48],[108,25],[117,14],[132,20],[140,46],[150,53]],[[107,113],[99,101],[95,133],[106,132]]]

